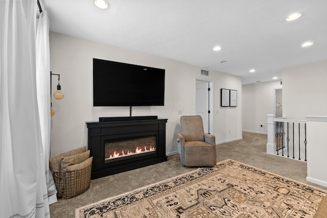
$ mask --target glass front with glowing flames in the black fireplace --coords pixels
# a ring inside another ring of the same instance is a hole
[[[105,141],[105,163],[155,154],[155,135]]]

